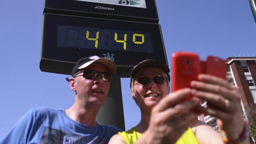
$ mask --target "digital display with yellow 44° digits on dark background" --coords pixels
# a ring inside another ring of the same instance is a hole
[[[57,26],[57,46],[123,52],[154,52],[150,33],[85,26]]]

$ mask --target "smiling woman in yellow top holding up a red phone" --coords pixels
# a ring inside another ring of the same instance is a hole
[[[137,64],[131,74],[131,92],[140,107],[141,120],[127,132],[114,135],[109,144],[249,144],[247,124],[240,115],[239,91],[220,78],[201,74],[191,88],[170,93],[169,68],[148,59]],[[183,101],[190,94],[192,99]],[[199,106],[201,99],[207,108]],[[215,116],[225,135],[197,120],[200,113]],[[246,137],[247,136],[247,137]],[[233,140],[233,141],[232,141]]]

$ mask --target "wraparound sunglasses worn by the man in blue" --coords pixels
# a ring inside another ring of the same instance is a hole
[[[95,78],[97,78],[98,75],[101,75],[103,81],[110,82],[110,75],[108,73],[103,73],[99,71],[80,71],[76,73],[74,77],[76,77],[79,73],[83,73],[83,75],[81,76],[88,80],[94,80]]]

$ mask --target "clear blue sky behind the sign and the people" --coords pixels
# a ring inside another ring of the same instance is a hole
[[[156,0],[167,52],[256,56],[256,24],[248,0]],[[28,109],[69,108],[66,75],[39,69],[43,0],[0,2],[0,139]],[[68,76],[69,77],[69,76]],[[126,130],[140,120],[129,78],[121,79]]]

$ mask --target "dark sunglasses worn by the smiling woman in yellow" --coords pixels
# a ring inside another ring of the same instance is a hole
[[[149,78],[148,76],[142,76],[142,77],[138,78],[137,80],[135,80],[135,82],[140,83],[142,85],[147,85],[150,83],[150,81],[151,81],[151,78]],[[164,76],[160,76],[160,75],[154,76],[153,81],[154,81],[154,83],[160,85],[166,81],[166,78]]]

